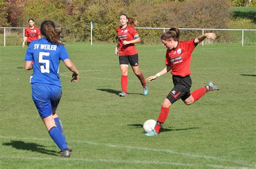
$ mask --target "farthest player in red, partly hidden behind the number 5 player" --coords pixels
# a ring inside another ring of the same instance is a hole
[[[29,26],[25,29],[25,38],[22,43],[22,47],[25,47],[25,41],[27,40],[28,46],[31,43],[31,41],[40,39],[41,38],[41,32],[38,29],[38,27],[35,27],[35,22],[33,19],[29,19]]]

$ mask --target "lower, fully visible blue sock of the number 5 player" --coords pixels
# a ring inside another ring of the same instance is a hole
[[[62,137],[62,133],[60,133],[59,129],[55,126],[49,130],[49,135],[53,139],[53,141],[57,144],[60,150],[68,149],[64,138]]]

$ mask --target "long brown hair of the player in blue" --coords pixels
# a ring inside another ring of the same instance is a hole
[[[41,24],[40,31],[45,38],[51,41],[51,43],[62,44],[60,41],[61,30],[57,30],[55,24],[51,20],[44,20]]]

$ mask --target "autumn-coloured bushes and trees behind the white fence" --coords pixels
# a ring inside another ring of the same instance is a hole
[[[120,13],[138,20],[138,27],[228,28],[232,6],[245,5],[246,0],[44,0],[0,1],[0,26],[26,27],[33,18],[36,26],[43,20],[53,20],[63,29],[67,39],[93,38],[116,42]],[[252,5],[254,3],[251,2]],[[162,31],[138,30],[143,43],[152,43]],[[200,32],[184,31],[184,38]]]

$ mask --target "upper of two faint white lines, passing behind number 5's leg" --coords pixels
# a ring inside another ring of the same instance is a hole
[[[25,140],[47,140],[49,141],[50,139],[45,139],[45,138],[17,138],[17,137],[11,137],[11,136],[0,136],[0,138],[6,138],[6,139],[25,139]],[[255,163],[248,163],[247,161],[242,161],[242,160],[228,160],[224,158],[219,158],[219,157],[213,157],[213,156],[203,156],[203,155],[197,155],[197,154],[191,154],[191,153],[183,153],[183,152],[176,152],[173,150],[163,150],[163,149],[151,149],[147,147],[133,147],[133,146],[126,146],[126,145],[113,145],[113,144],[103,144],[103,143],[93,143],[93,142],[85,142],[81,140],[74,140],[71,142],[79,143],[79,144],[89,144],[89,145],[96,145],[96,146],[107,146],[107,147],[115,147],[118,149],[130,149],[130,150],[144,150],[144,151],[154,151],[154,152],[165,152],[165,153],[170,153],[170,154],[177,154],[180,156],[186,156],[190,158],[204,158],[204,159],[210,159],[210,160],[216,160],[216,161],[227,161],[231,162],[234,164],[240,164],[240,165],[247,165],[250,167],[256,167]]]

